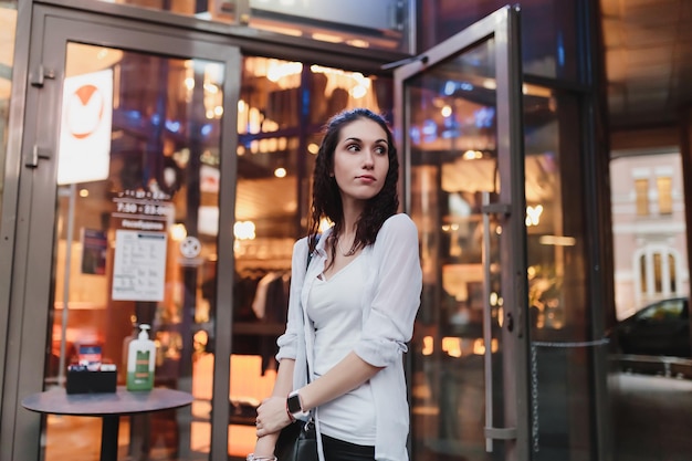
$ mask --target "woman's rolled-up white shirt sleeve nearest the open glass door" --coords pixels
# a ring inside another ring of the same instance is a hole
[[[382,224],[373,263],[371,303],[355,353],[373,366],[386,367],[407,350],[420,306],[418,230],[407,214],[395,214]]]

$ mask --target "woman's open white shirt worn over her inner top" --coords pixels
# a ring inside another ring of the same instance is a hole
[[[331,233],[331,229],[325,231],[317,243],[307,271],[307,238],[293,247],[289,322],[286,332],[277,340],[276,359],[295,359],[294,389],[306,384],[306,360],[310,369],[314,369],[315,331],[302,306],[307,305],[314,282],[324,271],[324,244]],[[365,248],[358,258],[363,260],[364,282],[353,291],[360,297],[363,329],[353,350],[370,365],[385,367],[370,379],[376,418],[375,458],[406,461],[409,408],[402,354],[413,333],[422,287],[416,224],[407,214],[390,217],[375,243]],[[319,408],[316,413],[319,431]],[[319,444],[321,440],[317,438]],[[322,452],[319,458],[324,461]]]

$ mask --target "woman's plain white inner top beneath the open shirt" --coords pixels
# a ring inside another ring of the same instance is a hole
[[[363,286],[360,255],[332,274],[318,277],[307,298],[307,316],[315,328],[315,379],[348,355],[360,339],[363,308],[356,286]],[[375,444],[375,402],[370,383],[319,407],[321,432],[360,446]]]

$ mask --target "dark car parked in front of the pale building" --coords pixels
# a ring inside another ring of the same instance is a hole
[[[622,354],[690,357],[690,303],[674,297],[649,304],[612,331]]]

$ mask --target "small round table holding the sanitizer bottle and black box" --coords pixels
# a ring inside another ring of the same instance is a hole
[[[116,461],[120,416],[168,410],[191,402],[191,394],[166,388],[129,391],[118,387],[115,392],[104,394],[66,394],[65,389],[56,388],[25,397],[22,407],[41,413],[101,417],[101,461]]]

